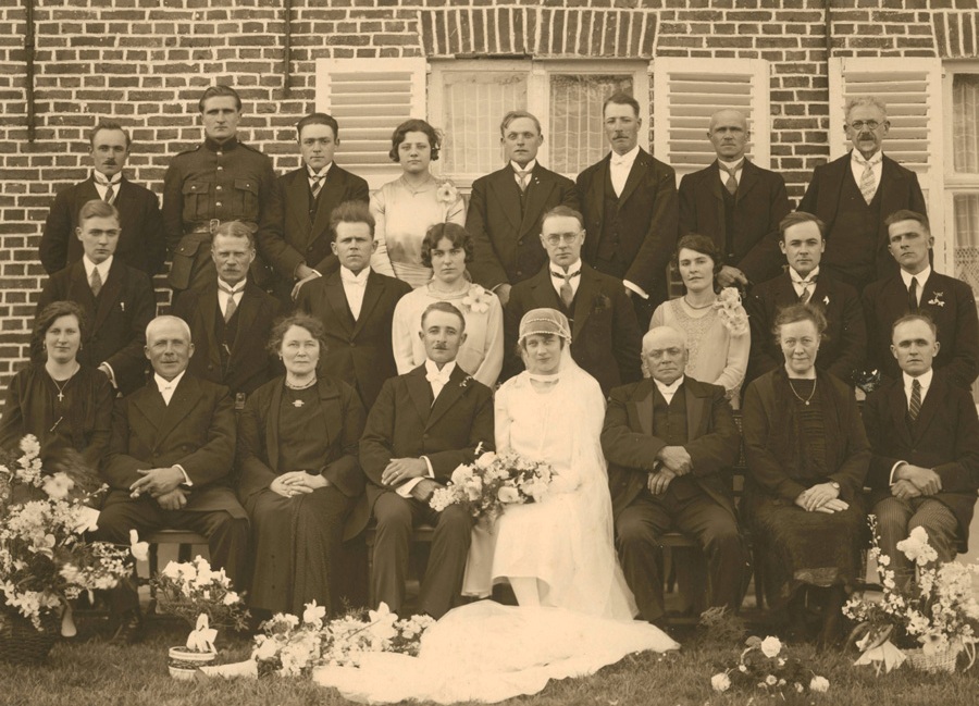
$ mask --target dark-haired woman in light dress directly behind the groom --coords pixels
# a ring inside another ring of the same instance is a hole
[[[425,346],[419,336],[421,315],[430,304],[448,301],[466,317],[466,342],[456,363],[490,387],[503,368],[503,307],[492,292],[473,284],[466,275],[472,261],[472,238],[455,223],[436,223],[422,241],[422,264],[435,276],[423,287],[405,295],[395,307],[392,345],[398,374],[425,362]]]

